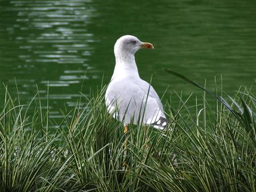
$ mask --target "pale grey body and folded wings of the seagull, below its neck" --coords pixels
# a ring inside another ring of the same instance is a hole
[[[110,82],[106,91],[106,106],[114,118],[124,120],[126,124],[143,122],[159,129],[167,124],[158,95],[143,80]]]

